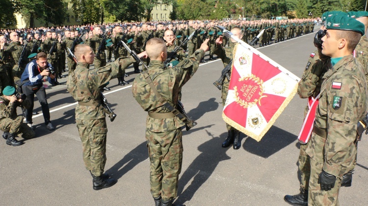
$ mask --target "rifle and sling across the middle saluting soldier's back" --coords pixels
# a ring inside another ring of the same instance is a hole
[[[194,32],[192,33],[194,35]],[[127,51],[131,54],[131,56],[135,59],[135,61],[137,62],[141,62],[142,65],[148,70],[148,67],[142,62],[142,60],[138,57],[137,53],[135,53],[135,51],[132,51],[123,41],[122,41],[123,46],[127,49]],[[147,71],[146,70],[146,71]],[[176,106],[176,108],[174,108],[169,102],[167,102],[157,91],[157,89],[155,88],[155,86],[153,85],[152,79],[151,77],[148,75],[147,72],[143,71],[142,73],[146,79],[146,81],[150,81],[148,82],[150,84],[151,89],[153,90],[153,92],[155,93],[155,95],[157,96],[158,99],[160,99],[160,102],[168,109],[170,110],[173,114],[175,114],[175,116],[179,117],[180,120],[182,120],[185,123],[185,129],[186,131],[190,130],[190,128],[194,127],[195,125],[197,125],[197,122],[195,122],[194,120],[190,119],[188,117],[188,115],[185,113],[184,110],[184,106],[182,104],[181,101],[178,101],[178,104]]]

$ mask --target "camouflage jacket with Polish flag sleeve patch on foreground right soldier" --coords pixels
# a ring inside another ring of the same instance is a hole
[[[312,135],[306,152],[323,163],[323,170],[342,177],[356,156],[357,123],[367,113],[367,83],[364,70],[352,56],[343,57],[323,76],[315,127],[326,137]]]

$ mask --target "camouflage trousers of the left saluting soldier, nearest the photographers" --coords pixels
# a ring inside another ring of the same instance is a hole
[[[84,166],[99,177],[104,173],[106,163],[106,120],[76,119],[76,122],[82,142]]]

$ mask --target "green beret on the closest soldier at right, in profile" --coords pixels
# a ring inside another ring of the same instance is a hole
[[[347,16],[332,16],[326,19],[326,29],[355,31],[364,35],[364,24]]]

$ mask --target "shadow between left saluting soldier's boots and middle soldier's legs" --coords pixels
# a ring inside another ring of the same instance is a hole
[[[116,162],[114,166],[106,170],[116,180],[133,169],[137,164],[148,158],[147,142],[144,141],[124,156],[123,159]]]

